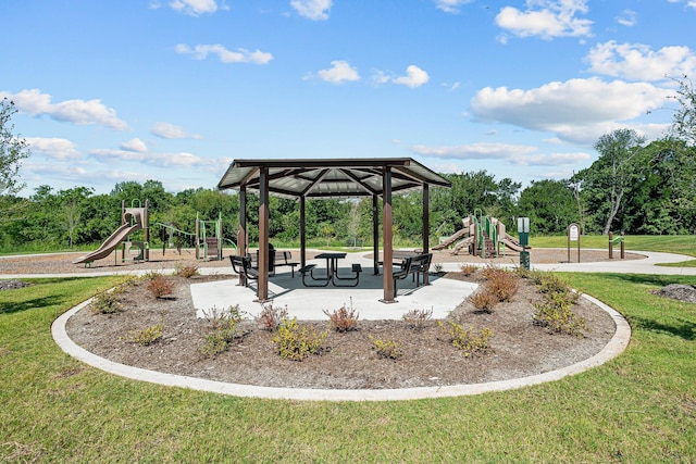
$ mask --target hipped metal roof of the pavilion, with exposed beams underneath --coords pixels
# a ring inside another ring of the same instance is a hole
[[[420,191],[424,185],[450,187],[440,175],[410,158],[234,160],[217,184],[220,190],[259,191],[268,168],[270,195],[296,199],[382,196],[384,168],[391,171],[395,195]]]

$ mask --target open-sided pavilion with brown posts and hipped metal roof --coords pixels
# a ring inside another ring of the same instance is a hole
[[[239,191],[239,234],[237,252],[247,253],[247,192],[259,195],[259,280],[258,301],[269,300],[269,196],[295,199],[300,205],[300,265],[307,258],[304,204],[307,199],[372,198],[374,273],[378,274],[378,198],[382,197],[383,262],[393,259],[391,195],[423,192],[423,253],[430,250],[430,187],[450,187],[450,183],[410,158],[234,160],[217,189]],[[394,302],[391,266],[384,267],[385,303]],[[427,275],[425,276],[427,279]],[[425,280],[427,284],[427,280]]]

